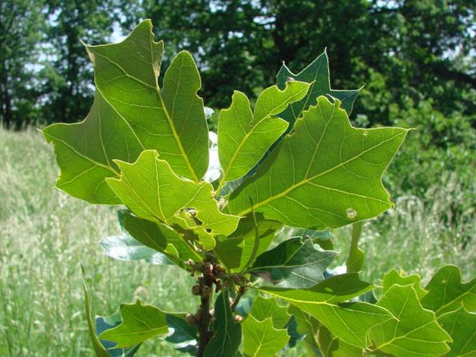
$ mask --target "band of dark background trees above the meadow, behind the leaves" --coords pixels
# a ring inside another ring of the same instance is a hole
[[[323,49],[331,85],[358,88],[361,124],[391,124],[392,107],[429,101],[475,126],[474,1],[7,0],[1,3],[1,120],[76,121],[92,99],[81,45],[110,40],[151,18],[167,58],[192,52],[202,96],[224,108],[233,89],[251,97],[274,83],[281,63],[295,72]]]

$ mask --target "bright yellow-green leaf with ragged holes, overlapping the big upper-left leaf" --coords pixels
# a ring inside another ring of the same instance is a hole
[[[115,163],[121,176],[106,178],[106,182],[138,217],[195,231],[206,250],[215,246],[213,235],[229,235],[236,229],[240,217],[220,212],[210,183],[180,178],[156,151],[143,151],[136,163]],[[195,210],[194,215],[190,209]]]

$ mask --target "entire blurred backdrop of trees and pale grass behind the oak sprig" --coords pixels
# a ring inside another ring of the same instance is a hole
[[[79,259],[99,313],[133,296],[176,310],[196,303],[180,288],[188,276],[100,254],[99,238],[118,231],[114,210],[50,190],[52,149],[32,130],[88,113],[94,79],[81,41],[115,41],[146,18],[165,41],[163,69],[190,51],[215,109],[233,90],[256,97],[281,63],[297,73],[326,49],[332,88],[364,86],[354,126],[416,128],[384,175],[395,210],[364,226],[363,276],[377,282],[396,267],[427,281],[444,263],[474,275],[475,14],[474,0],[0,1],[0,355],[91,355]],[[339,264],[350,231],[334,235]],[[158,344],[142,355],[174,355]]]

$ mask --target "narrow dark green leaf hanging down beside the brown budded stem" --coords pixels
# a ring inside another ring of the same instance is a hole
[[[237,357],[241,344],[241,325],[235,322],[229,303],[229,294],[223,290],[215,301],[213,338],[208,342],[204,357]]]

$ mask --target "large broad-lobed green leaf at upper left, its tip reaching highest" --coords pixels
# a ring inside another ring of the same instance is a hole
[[[122,42],[86,49],[95,67],[95,100],[77,124],[44,129],[54,143],[61,174],[57,187],[93,204],[120,204],[105,179],[119,176],[114,159],[132,162],[155,149],[174,172],[198,182],[208,167],[208,130],[201,80],[190,53],[177,55],[158,76],[163,42],[154,42],[150,20]]]

